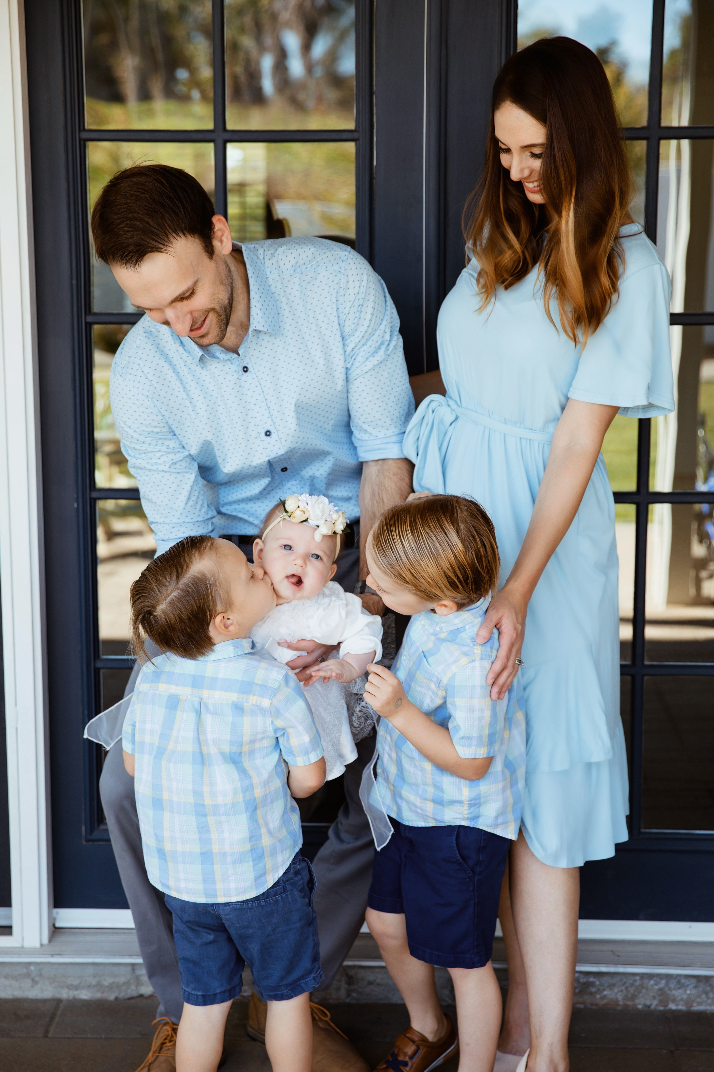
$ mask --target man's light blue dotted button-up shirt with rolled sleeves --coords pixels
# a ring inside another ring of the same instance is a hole
[[[360,515],[363,461],[402,458],[414,405],[399,321],[349,247],[243,247],[250,326],[239,354],[142,317],[111,370],[111,411],[157,553],[192,535],[253,534],[278,498]]]

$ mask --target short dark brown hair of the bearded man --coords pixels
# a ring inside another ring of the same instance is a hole
[[[213,202],[193,175],[166,164],[135,164],[117,172],[96,198],[94,252],[105,264],[138,268],[177,238],[198,238],[213,257],[214,215]]]

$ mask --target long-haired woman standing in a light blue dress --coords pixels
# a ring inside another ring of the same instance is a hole
[[[439,314],[446,397],[425,399],[405,438],[415,491],[472,495],[493,519],[503,583],[478,640],[500,631],[491,696],[519,665],[526,689],[526,800],[500,907],[504,1072],[568,1068],[578,867],[627,837],[614,506],[599,451],[618,412],[673,408],[669,278],[631,195],[594,54],[553,38],[512,56],[493,87],[471,259]]]

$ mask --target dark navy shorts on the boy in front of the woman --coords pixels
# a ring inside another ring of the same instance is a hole
[[[473,827],[406,827],[375,866],[367,904],[405,914],[409,952],[441,968],[483,968],[491,958],[507,837]]]

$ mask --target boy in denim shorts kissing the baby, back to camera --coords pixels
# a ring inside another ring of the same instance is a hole
[[[131,598],[145,665],[124,762],[149,878],[173,915],[177,1072],[215,1072],[245,963],[268,1001],[274,1072],[309,1072],[309,993],[323,977],[292,798],[319,789],[325,765],[294,675],[247,639],[275,592],[232,542],[189,536],[147,566]],[[145,637],[163,654],[145,661]]]

